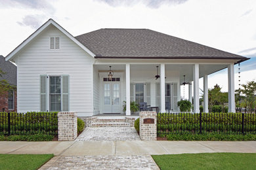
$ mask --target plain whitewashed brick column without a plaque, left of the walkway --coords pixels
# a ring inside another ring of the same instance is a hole
[[[74,141],[77,137],[77,112],[58,112],[58,141]]]

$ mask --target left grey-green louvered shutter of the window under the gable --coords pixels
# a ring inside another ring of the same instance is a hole
[[[47,110],[47,75],[40,75],[40,110]]]

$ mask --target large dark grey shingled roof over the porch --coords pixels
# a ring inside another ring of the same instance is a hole
[[[150,29],[98,29],[75,39],[95,58],[249,59]]]

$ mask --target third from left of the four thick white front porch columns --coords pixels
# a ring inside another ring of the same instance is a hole
[[[196,63],[193,67],[194,78],[194,113],[200,112],[199,109],[199,64]]]

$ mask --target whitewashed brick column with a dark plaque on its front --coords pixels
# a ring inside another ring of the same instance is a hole
[[[156,141],[156,112],[140,112],[140,139]]]

